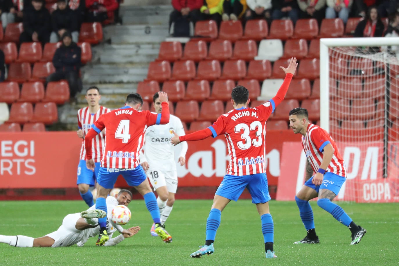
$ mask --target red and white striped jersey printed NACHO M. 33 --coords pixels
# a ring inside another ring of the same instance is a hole
[[[273,100],[255,108],[233,109],[209,126],[213,137],[224,134],[229,149],[227,175],[265,173],[266,120],[275,109]]]

